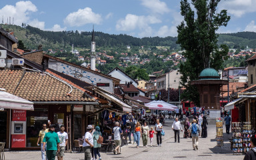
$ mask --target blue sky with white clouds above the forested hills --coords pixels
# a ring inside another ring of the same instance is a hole
[[[190,1],[190,0],[189,0]],[[217,33],[256,32],[256,0],[222,0],[227,27]],[[133,37],[177,36],[180,0],[1,0],[0,23],[26,23],[45,31],[101,31]],[[13,21],[14,19],[14,21]]]

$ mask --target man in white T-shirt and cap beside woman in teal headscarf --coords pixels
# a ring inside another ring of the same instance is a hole
[[[91,160],[91,148],[93,147],[93,126],[88,125],[86,127],[87,132],[85,133],[85,139],[83,140],[83,152],[85,153],[85,160]]]

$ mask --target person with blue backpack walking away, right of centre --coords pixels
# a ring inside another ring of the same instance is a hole
[[[197,120],[193,119],[193,124],[190,125],[189,131],[192,136],[193,149],[198,149],[198,137],[200,136],[200,127],[197,125]]]

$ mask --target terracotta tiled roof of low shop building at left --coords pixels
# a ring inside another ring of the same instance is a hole
[[[41,72],[0,70],[0,87],[29,101],[95,101],[83,91]]]

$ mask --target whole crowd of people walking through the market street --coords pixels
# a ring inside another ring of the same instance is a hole
[[[209,111],[204,112],[205,110],[199,114],[199,112],[194,112],[195,114],[189,115],[185,117],[183,121],[183,126],[181,125],[181,115],[175,113],[175,121],[173,121],[173,125],[171,128],[174,131],[175,135],[175,143],[180,143],[180,133],[184,131],[183,138],[191,138],[192,139],[192,147],[193,150],[199,149],[199,137],[206,138],[207,137],[207,113]],[[185,111],[187,113],[187,111]],[[171,113],[172,115],[172,113]],[[114,137],[115,148],[113,148],[113,154],[119,155],[121,154],[121,141],[122,139],[127,139],[127,136],[123,136],[124,133],[129,137],[129,143],[131,142],[131,136],[133,135],[133,144],[136,144],[136,148],[140,146],[140,139],[142,139],[143,147],[153,146],[153,137],[156,137],[156,146],[162,146],[162,136],[165,135],[163,130],[163,124],[165,120],[165,115],[149,115],[143,117],[141,119],[135,119],[131,113],[127,115],[129,117],[128,122],[125,126],[123,126],[122,121],[115,121],[114,127],[112,129],[112,134]],[[189,117],[193,117],[193,121],[189,122]],[[171,118],[171,117],[169,117]],[[229,126],[230,126],[230,117],[227,114],[225,117],[227,134],[229,134]],[[141,125],[142,123],[142,125]],[[153,124],[155,127],[149,127],[149,123]],[[154,124],[155,123],[155,124]],[[47,129],[47,125],[43,124],[43,129],[39,133],[39,138],[37,141],[37,145],[39,145],[39,141],[41,141],[41,156],[42,159],[53,160],[57,156],[58,160],[62,160],[64,156],[65,146],[67,145],[67,133],[65,132],[65,127],[61,125],[59,131],[55,131],[56,125],[49,124],[49,129]],[[99,126],[95,127],[94,125],[88,125],[87,131],[83,138],[83,152],[86,160],[95,160],[97,157],[101,159],[101,154],[99,153],[99,149],[101,148],[101,143],[103,142],[103,134],[101,133],[101,129]],[[57,129],[58,130],[58,129]],[[253,156],[255,158],[256,147],[255,147],[255,135],[251,138],[251,146],[252,149],[245,155],[245,159],[251,159]],[[148,140],[150,141],[150,145],[148,145]],[[46,151],[46,158],[45,158]]]

